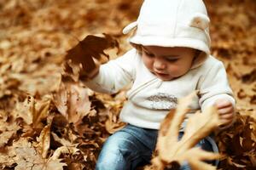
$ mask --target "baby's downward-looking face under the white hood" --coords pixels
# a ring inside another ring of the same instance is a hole
[[[143,46],[143,63],[149,71],[163,81],[186,74],[193,63],[196,50],[192,48],[166,48]]]

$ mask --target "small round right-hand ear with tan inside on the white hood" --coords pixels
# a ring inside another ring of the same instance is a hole
[[[189,21],[189,26],[206,30],[209,27],[210,19],[206,14],[194,14]]]

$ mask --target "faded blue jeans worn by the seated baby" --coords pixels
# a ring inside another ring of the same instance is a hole
[[[127,125],[110,136],[96,162],[96,170],[135,170],[150,163],[157,141],[158,130]],[[181,138],[183,133],[180,133]],[[212,151],[207,140],[202,139],[197,146]],[[188,163],[180,167],[190,169]]]

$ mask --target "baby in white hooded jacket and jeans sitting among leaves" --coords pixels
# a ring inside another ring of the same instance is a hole
[[[113,94],[132,84],[120,113],[128,125],[107,139],[96,169],[136,169],[148,163],[160,122],[177,99],[195,90],[199,96],[189,114],[215,105],[222,124],[230,126],[235,99],[224,65],[210,55],[209,21],[201,0],[145,0],[137,21],[123,31],[133,31],[134,48],[88,74],[86,85],[97,92]],[[197,145],[218,152],[211,137]]]

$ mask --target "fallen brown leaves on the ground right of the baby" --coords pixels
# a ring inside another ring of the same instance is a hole
[[[236,96],[237,122],[218,134],[224,169],[256,167],[256,3],[207,1],[212,19],[212,54],[224,61]]]

